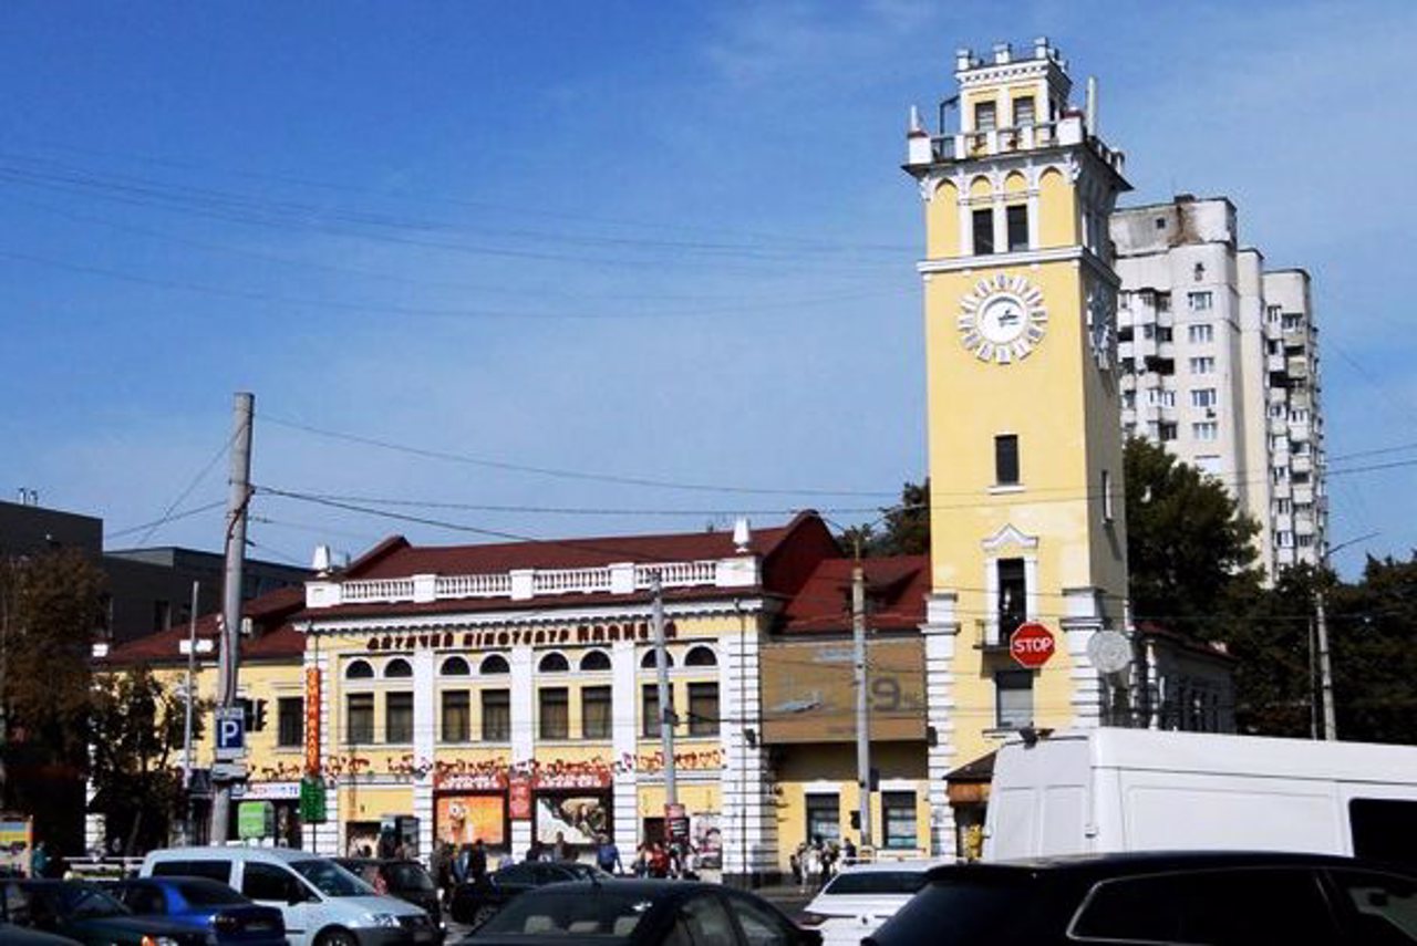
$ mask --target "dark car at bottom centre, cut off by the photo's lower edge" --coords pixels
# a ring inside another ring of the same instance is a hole
[[[466,946],[822,946],[767,901],[718,884],[595,879],[527,891]],[[931,940],[920,940],[931,942]],[[988,940],[981,940],[988,942]]]

